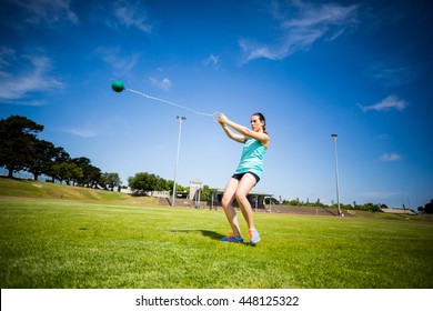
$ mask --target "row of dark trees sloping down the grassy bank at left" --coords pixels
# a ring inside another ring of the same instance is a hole
[[[71,158],[62,148],[38,138],[43,126],[21,116],[0,120],[0,167],[8,170],[8,177],[28,171],[34,180],[46,175],[67,184],[87,188],[120,188],[118,173],[102,172],[85,157]]]

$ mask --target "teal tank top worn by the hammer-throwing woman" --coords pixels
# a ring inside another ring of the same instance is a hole
[[[258,140],[248,138],[242,149],[241,161],[235,173],[253,172],[262,177],[263,158],[268,149]]]

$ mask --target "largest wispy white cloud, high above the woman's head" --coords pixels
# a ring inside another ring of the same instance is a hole
[[[306,4],[300,0],[290,1],[290,11],[298,12],[289,16],[283,12],[285,8],[274,2],[273,14],[279,21],[281,33],[276,43],[260,43],[242,39],[239,46],[244,52],[245,62],[268,58],[280,60],[298,51],[306,51],[319,40],[332,41],[344,31],[356,24],[356,6],[343,7],[334,3]]]

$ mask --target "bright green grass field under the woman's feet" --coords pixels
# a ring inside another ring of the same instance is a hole
[[[222,211],[2,191],[2,289],[433,288],[432,221],[256,213],[251,247]]]

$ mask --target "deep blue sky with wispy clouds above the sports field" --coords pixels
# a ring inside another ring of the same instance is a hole
[[[430,1],[3,0],[0,118],[127,183],[137,172],[223,188],[241,144],[209,117],[266,117],[256,190],[416,209],[433,198]]]

